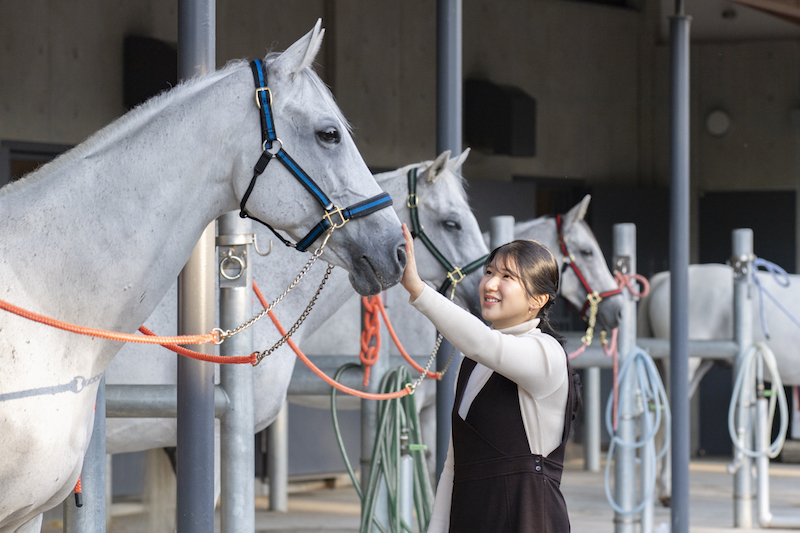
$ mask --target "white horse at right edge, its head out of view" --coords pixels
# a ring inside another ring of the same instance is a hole
[[[800,318],[800,276],[790,274],[789,286],[776,282],[768,272],[756,273],[759,283],[793,316]],[[697,341],[733,339],[733,269],[727,265],[689,266],[689,339]],[[756,291],[752,305],[753,342],[764,342],[775,354],[784,385],[800,385],[797,347],[800,328],[778,306],[764,298],[764,311],[770,337],[761,326],[759,297]],[[650,293],[639,302],[637,334],[639,337],[668,339],[670,336],[670,276],[659,272],[650,280]],[[689,358],[690,395],[713,361]],[[659,498],[668,504],[672,493],[671,471],[665,462],[659,471]]]

